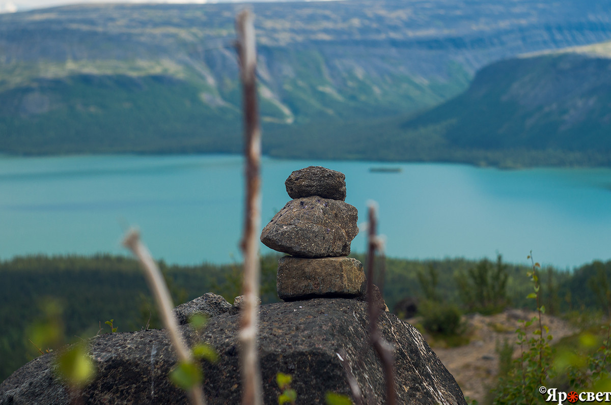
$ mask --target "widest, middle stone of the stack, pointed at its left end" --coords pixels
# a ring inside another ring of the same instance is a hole
[[[359,233],[358,213],[343,201],[318,196],[290,200],[263,228],[261,241],[296,257],[337,257],[350,253]]]

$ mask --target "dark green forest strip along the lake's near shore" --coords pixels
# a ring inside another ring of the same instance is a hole
[[[353,257],[365,262],[364,255]],[[277,255],[261,258],[263,304],[278,301],[278,258]],[[229,302],[241,294],[239,263],[176,266],[161,261],[159,266],[175,305],[209,291],[221,294]],[[503,263],[500,255],[496,261],[379,258],[376,282],[383,288],[391,312],[405,297],[415,297],[424,304],[433,296],[437,304],[452,305],[461,314],[486,314],[509,307],[535,309],[532,299],[527,299],[532,291],[527,279],[529,270],[532,271],[529,266]],[[594,261],[573,271],[541,269],[541,305],[547,308],[547,313],[557,316],[587,312],[602,319],[601,314],[611,310],[610,280],[611,261]],[[500,290],[489,294],[499,286]],[[67,342],[111,332],[106,325],[111,319],[118,332],[160,327],[137,262],[120,256],[32,255],[2,261],[0,300],[0,379],[48,349],[29,340],[37,324],[48,318],[49,307],[61,309],[54,319],[62,325],[63,340]],[[422,312],[432,313],[434,309],[420,307],[420,315],[425,319],[426,313]]]

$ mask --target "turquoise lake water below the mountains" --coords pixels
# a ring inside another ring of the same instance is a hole
[[[379,205],[391,257],[496,257],[572,268],[611,258],[611,169],[503,171],[456,164],[263,159],[262,226],[290,199],[284,180],[320,165],[346,175],[346,202]],[[400,167],[398,173],[371,167]],[[169,263],[240,260],[241,156],[0,157],[0,258],[126,254],[137,225]],[[352,250],[364,252],[361,232]],[[262,252],[270,252],[262,245]]]

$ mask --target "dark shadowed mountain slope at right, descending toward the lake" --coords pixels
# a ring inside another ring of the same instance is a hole
[[[524,151],[538,154],[540,164],[550,164],[550,154],[556,164],[563,154],[565,164],[609,164],[610,70],[611,59],[576,52],[502,60],[480,70],[466,92],[401,128],[434,133],[448,153]]]

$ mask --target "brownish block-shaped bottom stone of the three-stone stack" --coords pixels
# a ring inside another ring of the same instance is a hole
[[[278,296],[284,301],[312,297],[359,297],[367,283],[360,261],[349,257],[301,258],[278,261]]]

